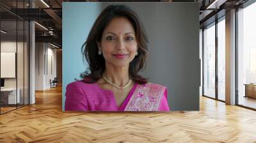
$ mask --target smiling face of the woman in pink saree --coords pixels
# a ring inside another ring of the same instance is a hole
[[[114,67],[128,66],[138,50],[131,22],[124,17],[114,18],[102,33],[99,50],[107,64]]]

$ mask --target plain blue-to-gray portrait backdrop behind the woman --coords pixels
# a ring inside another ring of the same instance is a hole
[[[88,66],[82,61],[81,46],[100,11],[109,4],[129,6],[147,31],[148,63],[140,74],[168,87],[171,110],[199,110],[199,6],[166,2],[63,3],[63,110],[67,84]]]

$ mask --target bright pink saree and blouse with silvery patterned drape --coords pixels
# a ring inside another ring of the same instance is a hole
[[[118,107],[112,91],[98,84],[76,81],[68,84],[65,110],[83,111],[170,111],[167,89],[159,84],[134,84],[124,102]]]

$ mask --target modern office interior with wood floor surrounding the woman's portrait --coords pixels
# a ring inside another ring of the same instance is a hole
[[[63,110],[63,3],[116,1],[0,1],[0,142],[256,142],[255,0],[122,1],[198,4],[200,110]]]

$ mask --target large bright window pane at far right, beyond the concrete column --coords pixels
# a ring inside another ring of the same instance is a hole
[[[238,16],[238,104],[256,109],[256,3]]]

